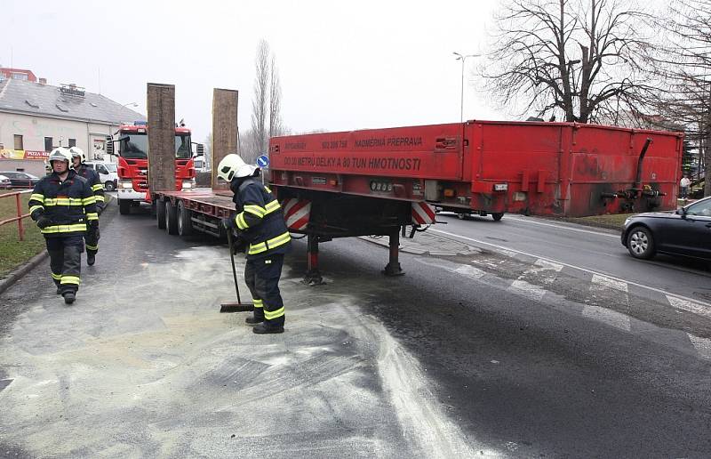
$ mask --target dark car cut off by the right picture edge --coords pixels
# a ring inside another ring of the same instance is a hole
[[[711,260],[711,197],[676,211],[629,217],[622,245],[635,258],[649,259],[659,253]]]

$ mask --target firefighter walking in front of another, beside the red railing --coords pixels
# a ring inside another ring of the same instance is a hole
[[[81,281],[84,234],[87,225],[99,225],[99,214],[89,182],[71,169],[69,150],[53,149],[49,162],[52,173],[37,182],[29,197],[29,214],[47,244],[57,294],[71,304]]]

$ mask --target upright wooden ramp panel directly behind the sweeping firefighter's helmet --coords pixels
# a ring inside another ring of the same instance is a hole
[[[212,93],[212,189],[229,188],[227,183],[218,183],[217,165],[229,153],[239,154],[238,96],[232,89],[215,88]]]

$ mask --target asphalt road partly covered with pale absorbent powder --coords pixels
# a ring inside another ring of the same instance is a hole
[[[46,267],[0,297],[0,453],[711,456],[706,303],[642,285],[691,270],[703,293],[704,271],[632,261],[627,283],[613,238],[451,221],[457,237],[403,240],[398,278],[383,241],[344,239],[321,246],[326,285],[305,286],[297,241],[287,331],[255,337],[214,312],[234,301],[224,247],[107,218],[74,306]],[[590,245],[566,248],[575,235]]]

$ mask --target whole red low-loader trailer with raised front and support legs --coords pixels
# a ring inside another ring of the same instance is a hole
[[[569,123],[468,121],[276,137],[270,187],[287,226],[308,237],[308,273],[320,282],[318,244],[389,237],[387,275],[402,274],[401,235],[456,213],[583,216],[675,206],[683,137]],[[215,162],[213,162],[215,163]],[[215,163],[216,164],[216,163]],[[215,186],[216,185],[216,186]],[[231,193],[159,191],[158,226],[222,236]]]

